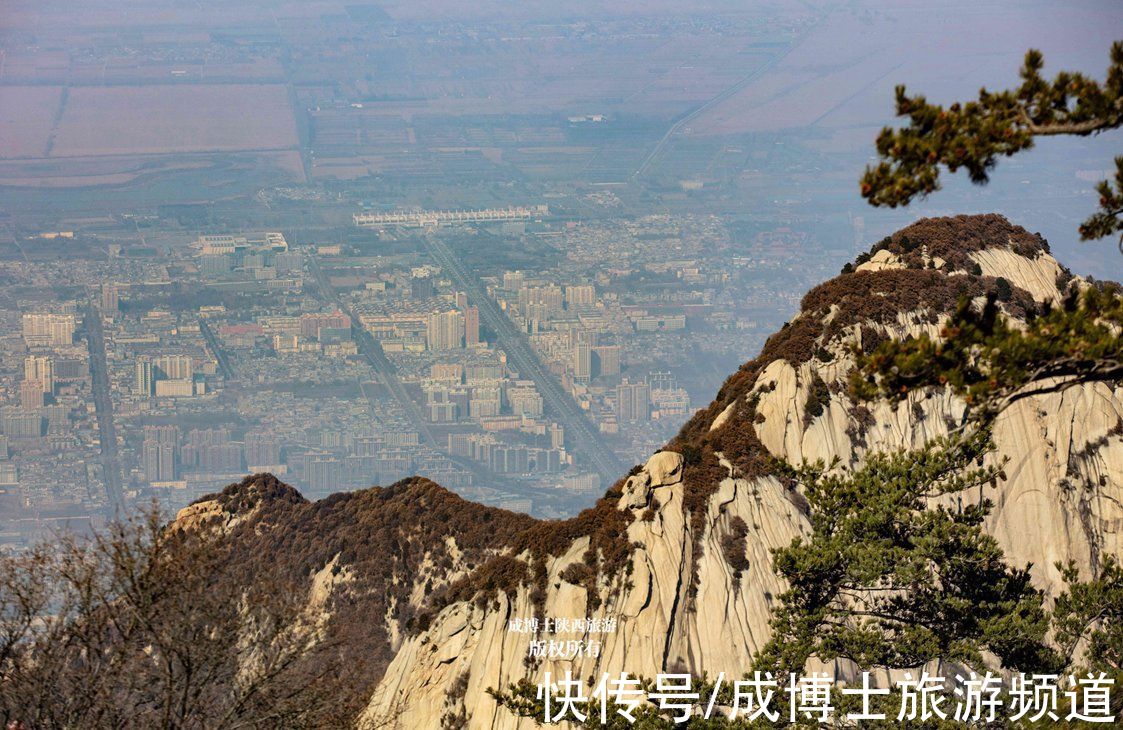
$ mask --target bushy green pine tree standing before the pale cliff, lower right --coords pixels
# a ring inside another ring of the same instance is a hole
[[[1011,668],[1057,668],[1029,566],[1007,566],[982,529],[992,503],[978,495],[1001,475],[976,466],[990,447],[977,429],[874,454],[852,472],[801,469],[812,532],[775,551],[789,587],[757,668],[800,673],[811,657],[979,666],[984,651]]]

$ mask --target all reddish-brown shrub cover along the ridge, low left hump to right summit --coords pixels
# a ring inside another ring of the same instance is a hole
[[[839,340],[859,330],[862,345],[870,349],[886,337],[884,326],[902,313],[935,322],[964,298],[994,294],[1008,312],[1029,313],[1035,304],[1026,292],[982,276],[969,255],[987,247],[1029,257],[1048,250],[1040,237],[999,216],[924,219],[879,247],[897,254],[907,267],[877,272],[851,267],[811,290],[800,316],[730,376],[714,401],[669,442],[668,450],[683,455],[683,500],[695,565],[710,499],[724,478],[774,475],[788,483],[756,429],[759,392],[768,390],[757,381],[770,363],[783,359],[798,367],[813,359],[830,362],[832,352],[840,352]],[[947,264],[928,267],[922,250]],[[829,396],[829,385],[813,375],[804,426],[823,413]],[[712,428],[730,407],[729,417]],[[855,407],[851,417],[860,426],[852,435],[857,441],[871,416]],[[222,532],[227,547],[217,575],[227,588],[286,585],[307,591],[312,576],[326,566],[334,565],[335,575],[345,574],[332,583],[320,610],[338,646],[335,658],[348,667],[348,684],[338,690],[335,703],[343,717],[355,717],[393,657],[392,635],[426,629],[453,603],[486,608],[501,593],[524,586],[541,605],[549,588],[549,562],[582,538],[588,539],[588,547],[562,578],[585,587],[590,608],[595,609],[602,586],[627,577],[630,569],[636,546],[629,540],[629,526],[636,519],[657,519],[654,507],[639,518],[632,510],[619,509],[623,483],[578,515],[555,521],[475,504],[421,477],[313,503],[271,475],[255,475],[201,501],[216,502],[219,514],[237,518],[229,519]],[[791,496],[793,504],[801,504],[800,495]],[[805,502],[797,509],[805,510]],[[721,526],[721,519],[715,524]],[[733,518],[718,529],[728,530],[720,545],[736,580],[748,567],[748,527]],[[692,588],[696,581],[695,572]],[[687,610],[690,605],[687,601]]]

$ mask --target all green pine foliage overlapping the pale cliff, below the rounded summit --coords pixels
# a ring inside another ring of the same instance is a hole
[[[794,471],[811,535],[774,554],[789,587],[757,667],[801,672],[811,657],[865,668],[931,659],[980,666],[983,655],[1030,672],[1070,664],[1081,639],[1095,666],[1123,653],[1123,571],[1114,560],[1088,583],[1069,567],[1056,637],[1029,569],[1011,567],[983,529],[985,493],[1001,464],[984,466],[994,419],[1030,395],[1123,377],[1123,296],[1114,285],[1072,288],[1061,307],[1007,319],[992,292],[961,300],[941,337],[886,340],[857,353],[856,402],[950,387],[969,405],[948,437],[917,450],[873,454],[855,471]]]

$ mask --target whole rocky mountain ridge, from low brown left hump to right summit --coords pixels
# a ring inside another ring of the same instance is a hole
[[[485,508],[423,477],[313,503],[258,475],[176,523],[221,524],[248,556],[247,577],[320,578],[323,610],[345,627],[359,667],[349,701],[365,705],[365,727],[437,727],[446,717],[522,727],[487,690],[550,668],[743,670],[784,587],[770,551],[809,529],[805,500],[777,465],[856,464],[965,418],[948,391],[852,402],[852,348],[938,336],[962,298],[990,296],[1019,320],[1086,285],[1040,236],[1001,216],[922,219],[812,289],[707,408],[574,518]],[[998,453],[1016,458],[988,531],[1012,560],[1033,563],[1049,592],[1060,585],[1058,560],[1090,568],[1121,547],[1120,423],[1123,392],[1096,384],[1028,401],[996,425]],[[1072,495],[1063,480],[1098,486]],[[1039,526],[1040,545],[1024,545],[1026,523]],[[270,556],[287,564],[267,566]],[[611,617],[620,628],[597,657],[530,660],[529,639],[505,629],[521,615]]]

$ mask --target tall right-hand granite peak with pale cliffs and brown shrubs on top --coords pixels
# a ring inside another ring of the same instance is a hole
[[[962,296],[992,293],[1017,319],[1081,285],[1040,237],[998,216],[922,220],[885,239],[809,292],[761,355],[584,520],[536,523],[530,539],[495,548],[422,601],[423,618],[395,641],[360,724],[531,727],[487,690],[545,672],[739,675],[767,641],[784,590],[770,550],[809,529],[803,499],[774,459],[856,464],[961,422],[965,404],[950,392],[852,402],[850,345],[935,336]],[[995,425],[988,458],[1008,462],[988,491],[996,508],[986,527],[1012,564],[1033,564],[1050,594],[1061,585],[1057,562],[1088,573],[1123,547],[1121,423],[1123,387],[1101,383],[1020,401]],[[508,630],[549,617],[614,630]],[[528,658],[532,641],[551,638],[599,640],[600,651]]]

